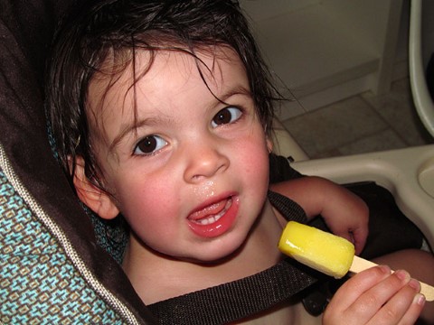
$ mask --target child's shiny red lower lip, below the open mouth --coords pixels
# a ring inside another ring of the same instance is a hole
[[[193,222],[189,222],[188,225],[197,236],[205,238],[219,237],[231,228],[237,217],[239,206],[240,200],[232,197],[231,207],[222,218],[209,225],[199,225]]]

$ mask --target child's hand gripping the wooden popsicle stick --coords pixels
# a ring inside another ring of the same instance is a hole
[[[420,283],[405,271],[376,266],[355,274],[325,309],[325,325],[414,324],[425,303]]]

